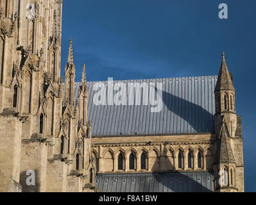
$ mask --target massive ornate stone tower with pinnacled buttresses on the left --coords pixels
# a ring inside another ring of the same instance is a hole
[[[0,1],[0,192],[93,186],[87,86],[74,102],[72,42],[60,78],[61,32],[62,1]]]

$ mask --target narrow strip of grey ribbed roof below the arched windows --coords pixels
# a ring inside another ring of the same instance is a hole
[[[161,174],[100,174],[99,192],[214,192],[210,172],[169,172]]]

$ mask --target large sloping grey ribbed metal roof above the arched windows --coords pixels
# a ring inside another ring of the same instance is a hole
[[[97,91],[93,88],[97,83],[107,86],[108,81],[89,82],[88,117],[92,121],[92,136],[214,133],[217,79],[218,76],[200,76],[114,81],[114,85],[124,83],[127,91],[131,82],[162,83],[163,107],[158,113],[152,113],[150,105],[142,104],[143,97],[141,105],[96,105],[93,98]],[[79,85],[76,84],[75,97]]]

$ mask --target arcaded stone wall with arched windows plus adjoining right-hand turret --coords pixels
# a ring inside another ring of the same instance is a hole
[[[131,176],[130,174],[179,172],[187,175],[205,172],[214,174],[212,183],[216,192],[244,192],[241,117],[235,110],[232,75],[226,66],[225,54],[222,56],[214,97],[215,131],[186,135],[121,133],[115,136],[93,136],[92,153],[98,174],[108,178],[114,177],[113,174],[125,177],[125,174]],[[99,179],[102,180],[103,177]],[[115,181],[119,186],[124,186],[121,185],[122,181],[118,181],[118,177]],[[202,185],[195,183],[195,186]],[[99,185],[105,188],[102,183]]]

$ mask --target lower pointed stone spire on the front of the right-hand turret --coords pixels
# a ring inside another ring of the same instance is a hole
[[[228,127],[226,126],[225,117],[223,117],[223,122],[221,126],[221,131],[219,133],[218,149],[216,152],[215,163],[235,163],[235,158],[233,151],[230,146],[228,133]]]

